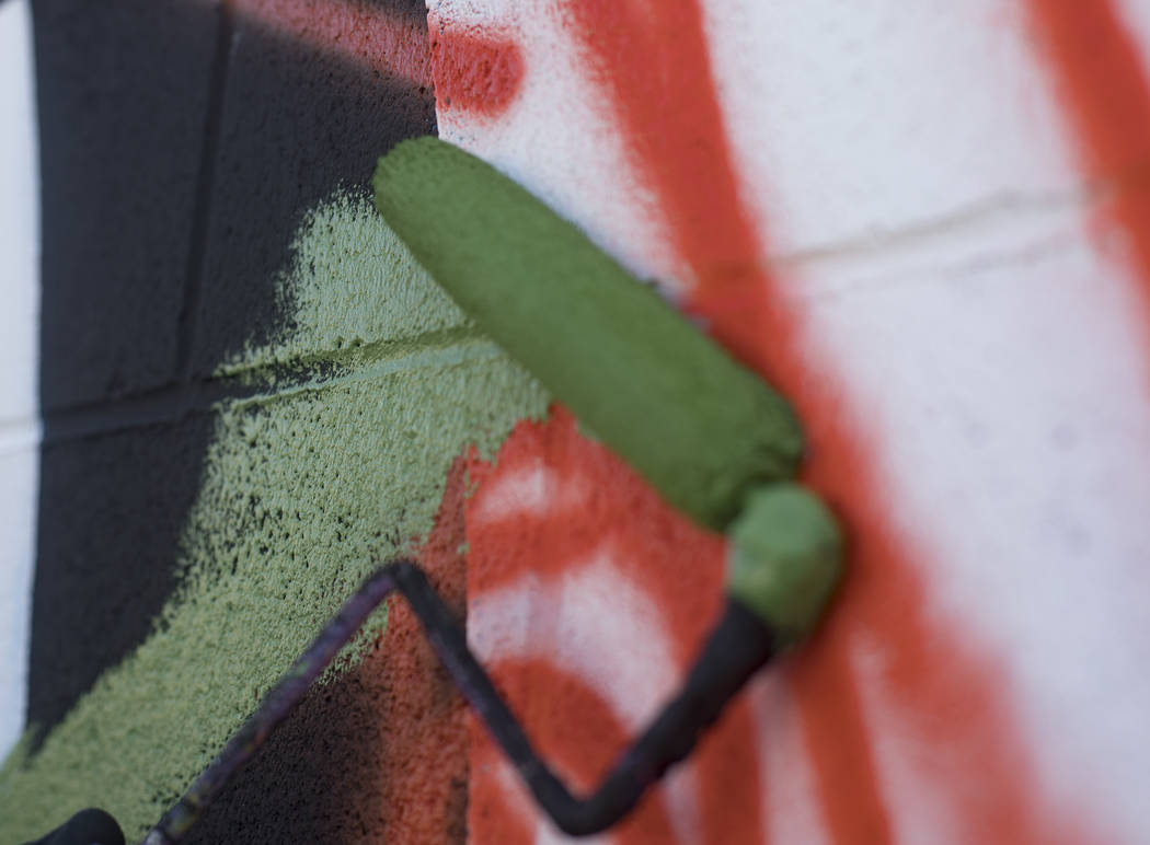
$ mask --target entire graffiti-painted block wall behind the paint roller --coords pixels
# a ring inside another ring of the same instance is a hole
[[[1145,3],[31,0],[0,38],[29,8],[0,839],[143,834],[400,552],[581,786],[677,685],[723,540],[374,212],[429,133],[779,386],[850,541],[814,640],[597,842],[1150,838]],[[393,607],[192,839],[564,837]]]

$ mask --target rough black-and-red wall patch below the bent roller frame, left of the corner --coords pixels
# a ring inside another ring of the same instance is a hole
[[[460,460],[420,553],[461,621],[465,485]],[[308,693],[189,843],[462,843],[466,746],[463,700],[394,600],[359,665]]]

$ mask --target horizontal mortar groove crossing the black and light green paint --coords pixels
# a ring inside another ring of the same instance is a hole
[[[299,378],[299,375],[285,375],[284,370],[289,366],[306,366],[306,363],[300,363],[302,361],[313,366],[354,367],[355,371],[368,368],[377,375],[388,375],[402,370],[405,361],[412,361],[413,366],[425,366],[423,361],[417,361],[420,353],[435,353],[452,344],[468,340],[489,344],[492,347],[490,354],[501,354],[498,347],[470,327],[425,332],[401,340],[377,340],[350,349],[336,349],[327,354],[312,353],[305,358],[296,359],[291,364],[274,362],[254,367],[239,367],[184,384],[172,382],[117,399],[53,410],[45,416],[43,441],[45,445],[54,445],[87,437],[121,433],[148,425],[170,425],[191,416],[213,413],[223,401],[256,398],[256,392],[263,385],[252,384],[251,381],[259,381],[260,376],[275,377],[276,381],[289,383],[293,377]],[[363,361],[365,356],[369,356],[370,360]],[[389,366],[390,361],[394,363]],[[330,384],[338,384],[355,378],[355,371],[337,371],[330,376],[312,372],[308,374],[307,381],[302,384],[289,384],[279,391],[270,393],[264,391],[264,400],[293,387],[304,386],[307,390],[319,390]]]

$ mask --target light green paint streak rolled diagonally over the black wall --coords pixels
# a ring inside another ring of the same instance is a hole
[[[545,413],[363,198],[307,217],[281,295],[293,328],[220,370],[266,390],[218,408],[176,596],[36,756],[10,755],[0,842],[89,805],[143,836],[371,560],[427,536],[461,450]]]

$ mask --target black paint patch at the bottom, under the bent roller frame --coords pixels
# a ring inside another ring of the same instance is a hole
[[[185,844],[390,840],[381,783],[386,727],[373,686],[351,673],[309,690]]]

